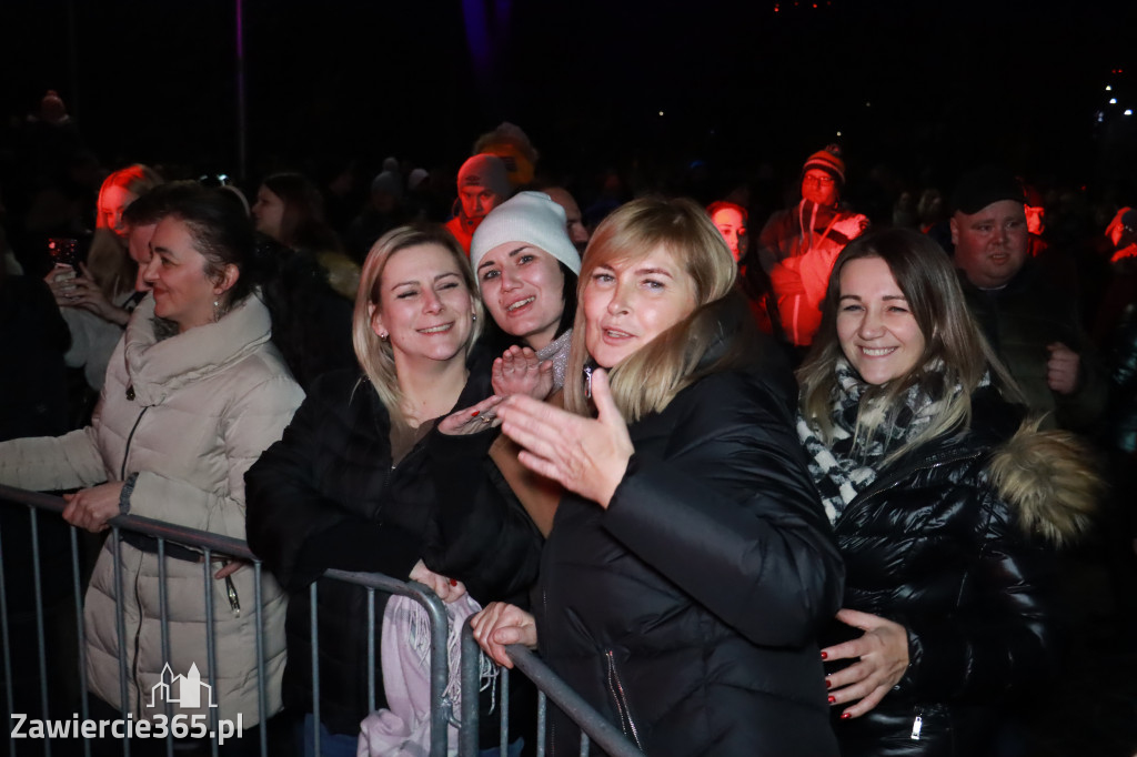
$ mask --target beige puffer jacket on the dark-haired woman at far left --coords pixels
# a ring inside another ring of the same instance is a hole
[[[244,539],[244,472],[281,438],[304,392],[269,342],[268,310],[255,296],[218,323],[164,341],[153,331],[153,299],[134,313],[110,359],[92,425],[59,438],[0,444],[0,481],[32,490],[91,486],[136,473],[130,511],[191,529]],[[126,664],[130,708],[138,718],[164,713],[148,707],[160,682],[160,606],[157,555],[119,542],[126,638],[119,652],[115,617],[114,546],[108,539],[86,593],[88,685],[118,707],[119,655]],[[206,647],[205,566],[167,558],[169,665],[185,675],[197,665],[209,680]],[[257,724],[254,572],[232,581],[235,613],[225,581],[211,577],[217,655],[213,701],[219,718]],[[267,574],[262,615],[267,713],[281,707],[285,596]],[[176,689],[175,689],[176,690]],[[174,706],[173,715],[207,714]],[[161,699],[158,699],[160,702]],[[206,721],[208,723],[208,718]]]

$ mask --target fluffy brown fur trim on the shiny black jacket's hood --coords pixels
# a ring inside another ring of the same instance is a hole
[[[1023,531],[1065,547],[1089,530],[1104,482],[1081,439],[1068,431],[1040,430],[1039,421],[1023,422],[996,448],[987,471]]]

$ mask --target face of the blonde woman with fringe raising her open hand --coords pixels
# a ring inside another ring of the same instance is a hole
[[[613,260],[582,282],[584,346],[612,368],[695,310],[695,281],[658,247],[638,260]]]

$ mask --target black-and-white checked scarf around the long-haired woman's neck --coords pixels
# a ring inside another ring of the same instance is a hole
[[[886,407],[879,396],[864,397],[871,386],[845,358],[837,361],[836,373],[829,414],[832,439],[822,441],[820,429],[811,426],[800,411],[797,415],[797,435],[810,456],[810,475],[821,493],[830,523],[836,523],[845,506],[875,481],[889,454],[928,427],[943,409],[947,396],[941,381],[931,386],[916,383],[895,407]],[[943,374],[932,369],[929,375],[939,377]],[[952,394],[960,391],[962,386],[956,385]]]

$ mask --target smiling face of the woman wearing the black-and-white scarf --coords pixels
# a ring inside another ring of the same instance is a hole
[[[923,356],[923,332],[881,258],[841,267],[837,336],[849,364],[878,386],[906,375]]]

